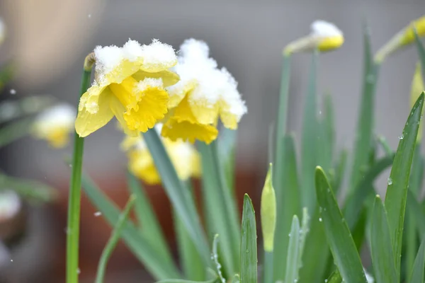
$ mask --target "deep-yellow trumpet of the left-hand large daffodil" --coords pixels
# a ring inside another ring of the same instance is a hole
[[[125,112],[124,119],[130,130],[147,132],[167,112],[168,93],[164,89],[149,87],[142,91],[137,108]]]

